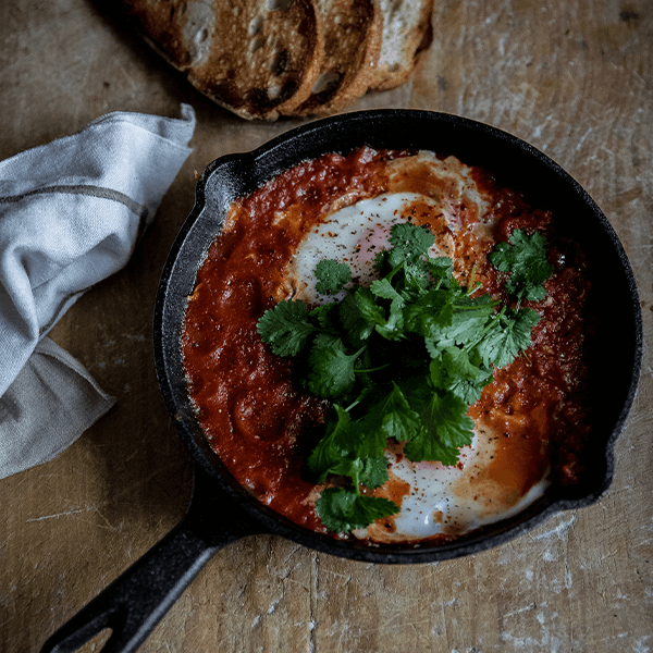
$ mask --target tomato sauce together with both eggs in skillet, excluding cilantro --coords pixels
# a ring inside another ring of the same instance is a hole
[[[454,157],[362,148],[304,162],[231,207],[198,270],[182,349],[198,420],[231,473],[263,504],[325,532],[315,513],[324,485],[305,460],[328,405],[296,386],[292,360],[269,350],[256,323],[281,299],[323,301],[313,275],[322,258],[346,261],[356,281],[371,283],[375,252],[401,220],[428,225],[431,255],[451,257],[463,284],[473,268],[496,298],[506,300],[505,280],[488,255],[515,229],[541,231],[555,269],[547,298],[528,304],[541,316],[533,345],[495,370],[469,409],[475,435],[458,465],[415,464],[390,442],[390,480],[373,493],[399,504],[399,514],[336,535],[433,543],[516,514],[551,483],[582,473],[589,285],[581,251],[558,236],[549,212]]]

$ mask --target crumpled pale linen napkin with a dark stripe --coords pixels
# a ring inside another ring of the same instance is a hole
[[[48,331],[128,261],[190,153],[195,113],[114,112],[0,162],[0,478],[46,463],[114,404]]]

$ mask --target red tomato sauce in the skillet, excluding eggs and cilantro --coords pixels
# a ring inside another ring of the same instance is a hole
[[[384,163],[407,155],[368,148],[347,157],[328,155],[238,199],[198,270],[188,301],[182,352],[189,395],[211,447],[263,504],[318,532],[325,532],[313,509],[318,489],[304,466],[328,404],[299,390],[292,360],[273,355],[261,342],[257,321],[283,298],[284,267],[308,230],[328,210],[385,193]],[[586,263],[575,244],[557,236],[549,213],[531,210],[481,171],[476,181],[494,198],[493,243],[507,241],[515,229],[542,231],[555,268],[546,282],[547,299],[531,305],[541,315],[532,347],[495,371],[469,410],[501,434],[495,459],[483,473],[526,493],[551,463],[554,482],[575,483],[588,434]],[[484,247],[479,250],[469,236],[476,278],[506,300],[505,279],[488,263]],[[519,478],[509,478],[515,475]]]

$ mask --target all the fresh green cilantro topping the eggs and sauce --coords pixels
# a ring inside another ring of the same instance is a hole
[[[543,236],[515,231],[510,244],[490,256],[509,275],[513,308],[479,294],[478,284],[461,286],[451,259],[428,256],[433,242],[426,227],[395,224],[370,287],[352,284],[347,264],[322,260],[316,288],[344,292],[342,300],[315,308],[280,301],[258,322],[272,352],[298,359],[306,390],[332,403],[324,435],[307,460],[317,482],[341,479],[316,505],[331,531],[365,528],[398,512],[361,490],[387,481],[390,439],[404,443],[410,460],[455,465],[472,439],[469,406],[493,369],[531,344],[539,316],[520,305],[545,296],[542,283],[552,268]]]

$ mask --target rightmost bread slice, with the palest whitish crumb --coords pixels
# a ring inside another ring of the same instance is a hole
[[[381,54],[370,88],[390,90],[408,81],[433,40],[433,0],[379,0],[383,14]]]

